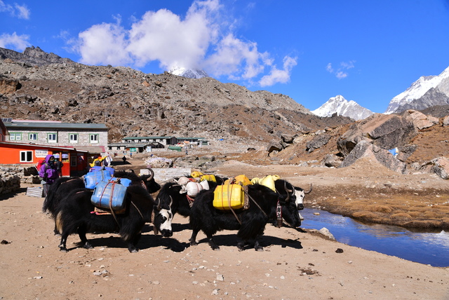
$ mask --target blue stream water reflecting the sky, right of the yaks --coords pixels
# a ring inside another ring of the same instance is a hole
[[[319,212],[320,215],[314,215]],[[409,261],[431,266],[449,266],[449,233],[423,233],[408,231],[402,227],[361,224],[340,214],[305,208],[301,211],[302,228],[326,227],[340,243],[361,247]]]

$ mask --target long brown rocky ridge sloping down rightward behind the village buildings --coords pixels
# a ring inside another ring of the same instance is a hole
[[[111,142],[175,135],[254,144],[351,122],[314,116],[286,95],[210,77],[87,66],[40,48],[0,48],[0,57],[2,117],[106,123]]]

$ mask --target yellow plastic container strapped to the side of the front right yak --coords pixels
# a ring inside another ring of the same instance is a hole
[[[213,207],[218,210],[239,210],[243,207],[245,193],[240,184],[217,186],[213,191]]]

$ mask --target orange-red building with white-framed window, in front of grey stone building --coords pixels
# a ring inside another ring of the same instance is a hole
[[[62,160],[62,176],[82,175],[87,168],[88,151],[66,146],[48,146],[0,141],[0,165],[37,165],[47,154]]]

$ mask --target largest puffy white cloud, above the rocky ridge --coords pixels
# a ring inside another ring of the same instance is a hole
[[[74,49],[82,63],[145,67],[156,61],[166,70],[205,69],[213,76],[248,82],[270,67],[270,74],[260,81],[265,86],[287,82],[296,64],[290,57],[283,70],[276,69],[271,55],[261,53],[257,43],[237,38],[234,28],[238,22],[219,0],[195,0],[185,18],[167,9],[147,11],[141,18],[130,19],[130,29],[121,26],[120,16],[114,18],[115,24],[93,25],[79,34]]]

